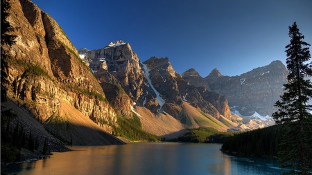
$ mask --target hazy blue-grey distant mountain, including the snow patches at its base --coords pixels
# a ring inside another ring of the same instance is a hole
[[[191,68],[182,73],[184,80],[198,89],[207,89],[227,98],[231,108],[231,120],[238,122],[237,127],[227,131],[252,130],[268,127],[275,122],[270,117],[277,110],[274,104],[284,93],[288,71],[280,61],[268,66],[254,68],[239,76],[225,76],[217,68],[203,78]]]

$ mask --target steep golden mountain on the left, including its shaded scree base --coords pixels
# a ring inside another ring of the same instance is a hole
[[[11,33],[17,36],[15,44],[1,42],[1,64],[8,81],[1,85],[16,104],[9,107],[28,111],[60,144],[123,144],[110,134],[117,125],[116,111],[62,28],[31,1],[12,0],[9,5],[6,20],[17,28]],[[2,58],[2,53],[7,57]],[[22,125],[28,133],[35,130],[28,122]],[[46,131],[36,133],[44,138]]]

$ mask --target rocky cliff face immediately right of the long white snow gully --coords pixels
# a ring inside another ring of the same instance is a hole
[[[167,105],[181,105],[181,102],[185,101],[215,118],[220,116],[218,109],[202,98],[198,89],[185,82],[181,75],[175,73],[168,58],[151,57],[143,64],[146,64],[149,69],[152,85],[166,102],[164,109],[168,109]],[[166,112],[171,113],[171,110]],[[171,115],[174,116],[174,113]]]

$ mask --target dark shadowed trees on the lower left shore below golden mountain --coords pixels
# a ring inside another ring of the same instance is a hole
[[[21,159],[21,148],[29,151],[39,151],[40,142],[38,136],[30,131],[25,132],[23,125],[17,121],[11,127],[10,123],[17,116],[11,110],[1,111],[1,162],[10,163]],[[42,154],[49,153],[48,142],[44,140]]]

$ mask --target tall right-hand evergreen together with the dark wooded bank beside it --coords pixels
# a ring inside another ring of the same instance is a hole
[[[284,174],[308,174],[312,171],[312,64],[309,47],[297,24],[289,26],[291,44],[286,46],[288,82],[284,94],[275,103],[272,116],[278,125],[257,129],[228,138],[222,150],[254,156],[277,156]]]

